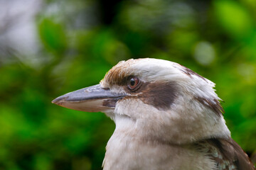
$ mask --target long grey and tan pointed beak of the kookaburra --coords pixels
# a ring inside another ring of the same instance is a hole
[[[114,109],[117,101],[126,94],[115,94],[110,89],[103,89],[100,84],[64,94],[52,103],[65,108],[86,112],[105,112]]]

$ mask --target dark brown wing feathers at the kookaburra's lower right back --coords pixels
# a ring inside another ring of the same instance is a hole
[[[203,140],[197,146],[216,162],[219,170],[255,170],[247,154],[232,138]]]

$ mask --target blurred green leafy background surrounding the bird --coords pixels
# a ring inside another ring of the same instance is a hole
[[[114,123],[50,101],[139,57],[214,81],[233,139],[253,155],[255,0],[2,0],[0,169],[101,169]]]

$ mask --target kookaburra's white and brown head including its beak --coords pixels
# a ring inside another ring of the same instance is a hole
[[[112,67],[100,84],[55,98],[53,103],[104,112],[122,135],[186,144],[230,137],[214,86],[175,62],[131,59]]]

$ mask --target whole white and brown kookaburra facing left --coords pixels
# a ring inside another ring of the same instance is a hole
[[[214,86],[175,62],[127,60],[53,103],[114,120],[104,170],[255,169],[230,137]]]

